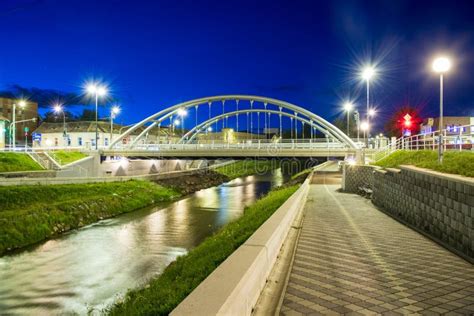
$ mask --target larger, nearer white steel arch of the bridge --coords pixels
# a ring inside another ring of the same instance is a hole
[[[263,103],[265,106],[267,104],[272,104],[277,107],[281,107],[290,111],[293,111],[296,115],[301,114],[306,117],[308,117],[311,121],[313,121],[315,124],[318,124],[322,129],[325,130],[327,134],[330,134],[334,136],[334,138],[340,140],[341,142],[345,143],[349,148],[353,149],[358,149],[358,146],[344,133],[342,132],[339,128],[336,126],[332,125],[322,117],[314,114],[311,111],[308,111],[302,107],[299,107],[297,105],[294,105],[292,103],[286,102],[286,101],[281,101],[273,98],[268,98],[268,97],[261,97],[261,96],[253,96],[253,95],[221,95],[221,96],[213,96],[213,97],[206,97],[206,98],[199,98],[195,100],[190,100],[182,103],[178,103],[176,105],[173,105],[171,107],[168,107],[164,110],[161,110],[153,115],[148,116],[147,118],[143,119],[142,121],[138,122],[134,126],[130,127],[128,130],[126,130],[124,133],[122,133],[117,139],[115,139],[109,146],[109,149],[112,149],[117,143],[119,143],[123,138],[129,136],[131,133],[133,133],[136,129],[145,126],[145,124],[151,123],[149,126],[147,126],[139,135],[138,137],[132,142],[130,147],[133,147],[138,140],[140,140],[144,135],[148,133],[151,128],[156,126],[156,124],[160,124],[164,120],[172,117],[173,115],[176,115],[179,109],[188,109],[192,108],[194,106],[199,106],[201,104],[212,104],[213,102],[216,101],[221,101],[225,102],[228,100],[234,100],[234,101],[242,101],[242,100],[247,100],[250,101],[250,104],[252,105],[254,102],[260,102]],[[257,110],[257,112],[264,112],[264,109],[259,109],[260,111]]]

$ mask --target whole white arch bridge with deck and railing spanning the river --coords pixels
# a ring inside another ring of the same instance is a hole
[[[130,141],[124,144],[124,139]],[[253,95],[220,95],[150,115],[113,140],[103,155],[344,157],[358,150],[358,144],[336,126],[295,104]]]

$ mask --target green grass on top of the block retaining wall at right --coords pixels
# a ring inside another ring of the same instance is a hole
[[[443,163],[438,163],[436,151],[397,151],[374,163],[385,168],[397,168],[400,165],[413,165],[444,173],[474,177],[474,152],[447,151]]]

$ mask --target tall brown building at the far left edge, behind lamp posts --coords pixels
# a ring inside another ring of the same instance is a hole
[[[31,134],[31,131],[34,130],[38,125],[37,120],[38,118],[38,103],[32,101],[25,101],[25,106],[20,106],[20,100],[18,99],[11,99],[11,98],[2,98],[0,97],[0,116],[4,119],[4,124],[6,128],[6,133],[2,136],[3,143],[8,143],[9,139],[8,136],[10,135],[10,124],[13,121],[13,105],[16,106],[16,121],[26,121],[26,122],[19,122],[16,124],[16,142],[15,143],[24,143],[25,142],[25,132],[28,135]]]

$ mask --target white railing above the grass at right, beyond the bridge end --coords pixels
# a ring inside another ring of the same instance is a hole
[[[440,137],[442,136],[442,137]],[[440,143],[441,139],[441,143]],[[397,150],[474,150],[474,125],[456,126],[450,129],[400,137],[395,142],[372,153],[372,160],[378,161]]]

